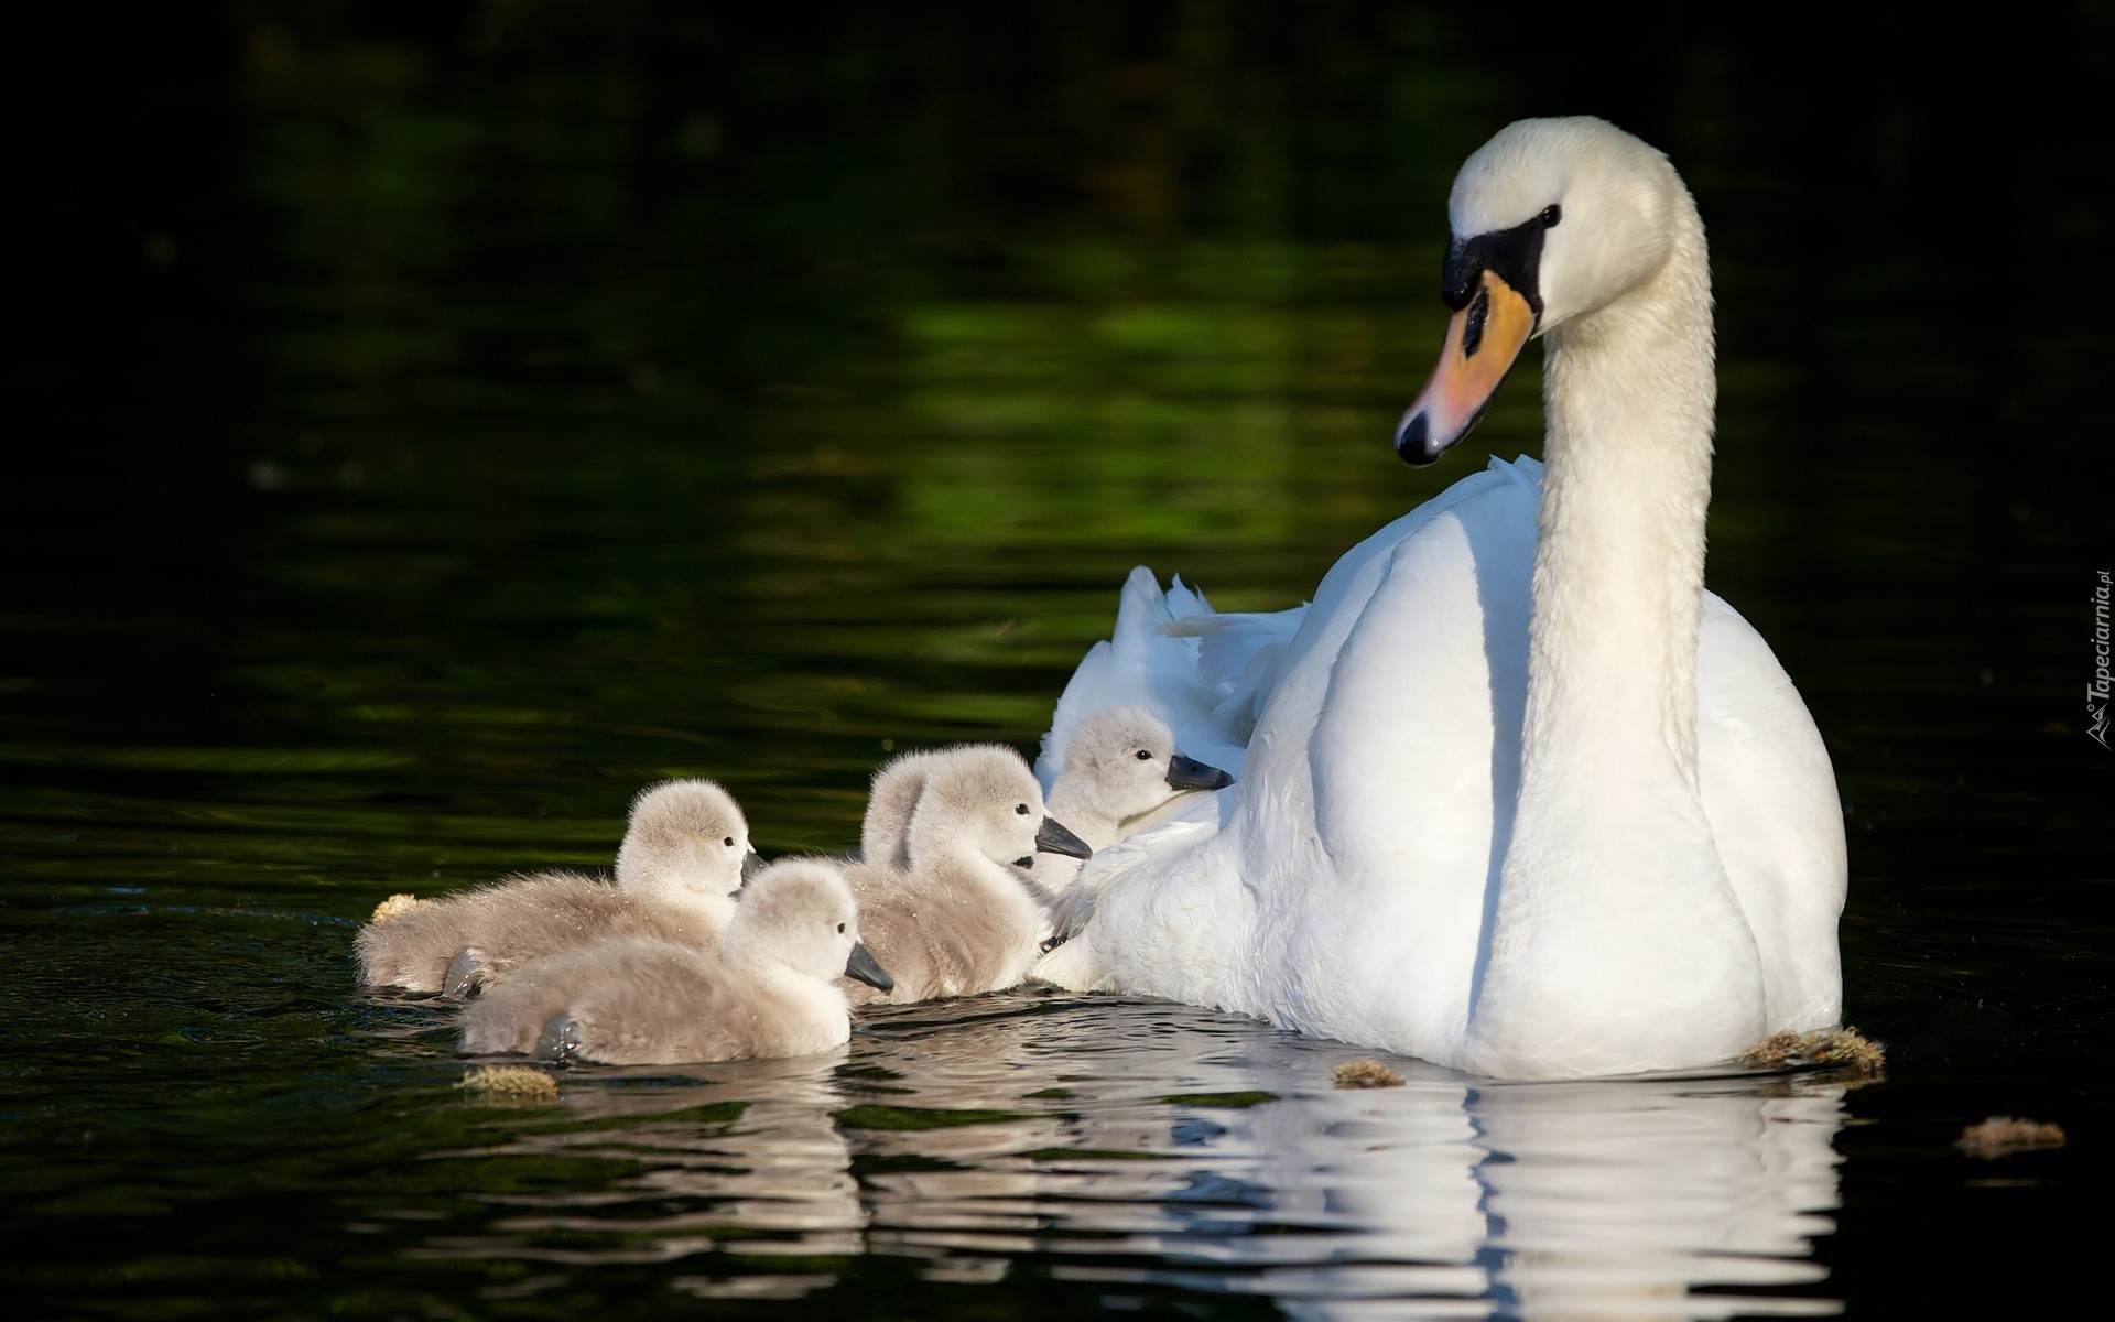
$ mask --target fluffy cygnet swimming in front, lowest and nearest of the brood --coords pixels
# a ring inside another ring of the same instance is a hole
[[[742,890],[717,954],[618,937],[539,960],[463,1011],[463,1051],[603,1064],[808,1055],[850,1036],[838,977],[890,986],[859,943],[844,876],[780,859]]]

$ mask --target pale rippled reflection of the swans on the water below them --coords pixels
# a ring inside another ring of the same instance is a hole
[[[1838,1206],[1840,1083],[1491,1085],[1394,1060],[1404,1087],[1332,1089],[1354,1055],[1201,1009],[1019,992],[878,1011],[835,1058],[575,1070],[565,1106],[586,1123],[484,1155],[643,1170],[489,1195],[489,1235],[425,1252],[683,1259],[696,1273],[670,1284],[715,1297],[857,1290],[850,1259],[884,1254],[939,1282],[1032,1261],[1296,1318],[1838,1311],[1810,1252]],[[797,1271],[774,1273],[787,1254]]]

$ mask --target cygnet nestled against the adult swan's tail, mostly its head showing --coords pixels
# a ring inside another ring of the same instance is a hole
[[[1153,825],[1184,793],[1229,785],[1227,772],[1176,751],[1167,721],[1144,706],[1110,706],[1072,732],[1049,808],[1100,850]],[[1036,859],[1030,876],[1058,895],[1079,867],[1072,859]]]

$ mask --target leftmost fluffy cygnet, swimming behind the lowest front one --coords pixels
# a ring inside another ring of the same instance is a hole
[[[360,929],[360,984],[467,994],[529,960],[603,937],[711,950],[734,920],[734,890],[761,865],[749,821],[711,781],[668,781],[632,802],[618,884],[539,871],[400,907]]]

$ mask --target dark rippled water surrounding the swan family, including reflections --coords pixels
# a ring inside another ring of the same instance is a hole
[[[2052,1316],[2102,1252],[2102,6],[114,6],[25,42],[0,482],[11,1314]],[[1711,584],[1851,810],[1882,1081],[1332,1094],[1038,990],[474,1104],[391,890],[711,774],[854,840],[1134,563],[1299,601],[1432,472],[1445,192],[1533,112],[1711,226]],[[2071,1144],[1975,1161],[1986,1115]]]

